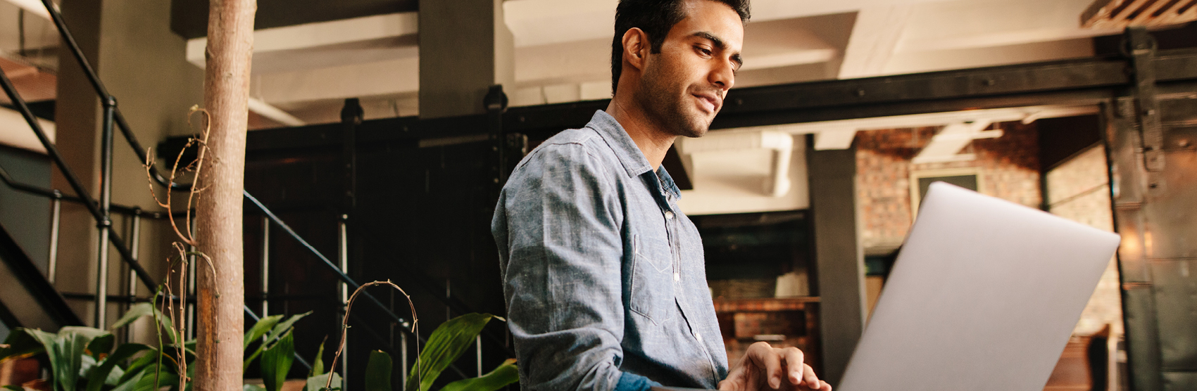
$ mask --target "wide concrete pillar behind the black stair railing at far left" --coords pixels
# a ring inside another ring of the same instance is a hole
[[[130,128],[144,147],[156,146],[168,135],[189,134],[188,108],[202,103],[203,71],[186,60],[186,41],[170,31],[170,2],[158,0],[66,0],[62,16],[84,55],[99,73],[109,93],[116,97]],[[92,196],[99,184],[101,106],[96,91],[69,54],[60,49],[55,122],[57,148]],[[128,142],[116,130],[114,141],[113,202],[158,210],[150,197],[145,170]],[[162,161],[159,161],[159,166]],[[66,179],[54,170],[51,184],[71,194]],[[162,188],[158,188],[159,194]],[[114,225],[128,222],[114,214]],[[57,288],[61,292],[95,292],[96,221],[77,204],[62,204],[59,246]],[[122,239],[129,240],[127,233]],[[174,233],[165,220],[142,221],[141,263],[162,280],[164,252]],[[120,294],[126,276],[123,261],[113,250],[109,292]],[[141,294],[146,291],[141,288]],[[90,319],[91,305],[72,300],[80,318]],[[109,322],[121,314],[111,304]]]

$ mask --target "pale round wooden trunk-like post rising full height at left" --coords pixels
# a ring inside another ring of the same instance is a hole
[[[208,13],[203,105],[211,133],[199,178],[203,190],[196,204],[196,240],[212,264],[196,258],[199,391],[242,389],[242,191],[256,11],[256,0],[212,0]]]

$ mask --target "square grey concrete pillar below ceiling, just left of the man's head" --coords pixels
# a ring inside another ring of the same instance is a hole
[[[485,114],[490,86],[515,80],[503,0],[420,2],[420,117]]]

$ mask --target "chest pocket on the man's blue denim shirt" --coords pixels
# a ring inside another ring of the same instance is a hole
[[[654,324],[673,319],[674,274],[673,255],[663,240],[651,243],[642,236],[632,237],[632,283],[628,300],[632,312]]]

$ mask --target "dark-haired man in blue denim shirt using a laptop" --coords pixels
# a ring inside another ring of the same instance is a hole
[[[723,105],[747,19],[747,0],[620,1],[610,105],[512,172],[492,232],[525,390],[831,390],[795,348],[757,343],[728,369],[703,243],[661,167]]]

